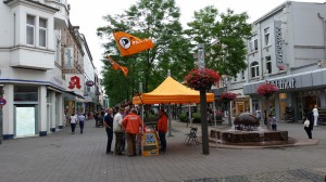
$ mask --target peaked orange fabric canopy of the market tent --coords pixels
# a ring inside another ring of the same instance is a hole
[[[142,102],[141,102],[142,101]],[[214,94],[206,93],[206,102],[214,102]],[[133,104],[186,104],[200,103],[199,91],[192,90],[167,77],[155,90],[133,98]]]

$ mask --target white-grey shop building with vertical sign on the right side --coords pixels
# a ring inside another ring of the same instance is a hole
[[[256,93],[266,81],[279,89],[268,102],[279,119],[287,119],[290,107],[297,121],[315,104],[326,107],[325,17],[325,3],[286,1],[252,23],[248,69],[228,87],[238,94],[233,116],[266,109],[267,102]]]

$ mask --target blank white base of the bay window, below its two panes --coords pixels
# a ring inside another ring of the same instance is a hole
[[[54,51],[28,47],[15,47],[11,50],[12,67],[48,70],[54,68]]]

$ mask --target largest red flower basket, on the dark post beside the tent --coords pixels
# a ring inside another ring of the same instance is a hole
[[[185,77],[186,86],[195,90],[209,90],[211,89],[212,84],[218,80],[220,75],[215,70],[209,68],[192,69]]]

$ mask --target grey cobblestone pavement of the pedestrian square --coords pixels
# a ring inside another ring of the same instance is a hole
[[[186,123],[173,121],[172,127],[167,152],[151,157],[106,155],[105,131],[96,128],[93,120],[86,122],[84,134],[71,134],[70,128],[64,128],[45,138],[5,140],[0,145],[0,182],[325,181],[326,126],[314,128],[316,145],[211,147],[210,155],[201,154],[200,144],[184,144],[190,130]],[[302,123],[280,122],[278,129],[289,131],[292,138],[306,139]]]

